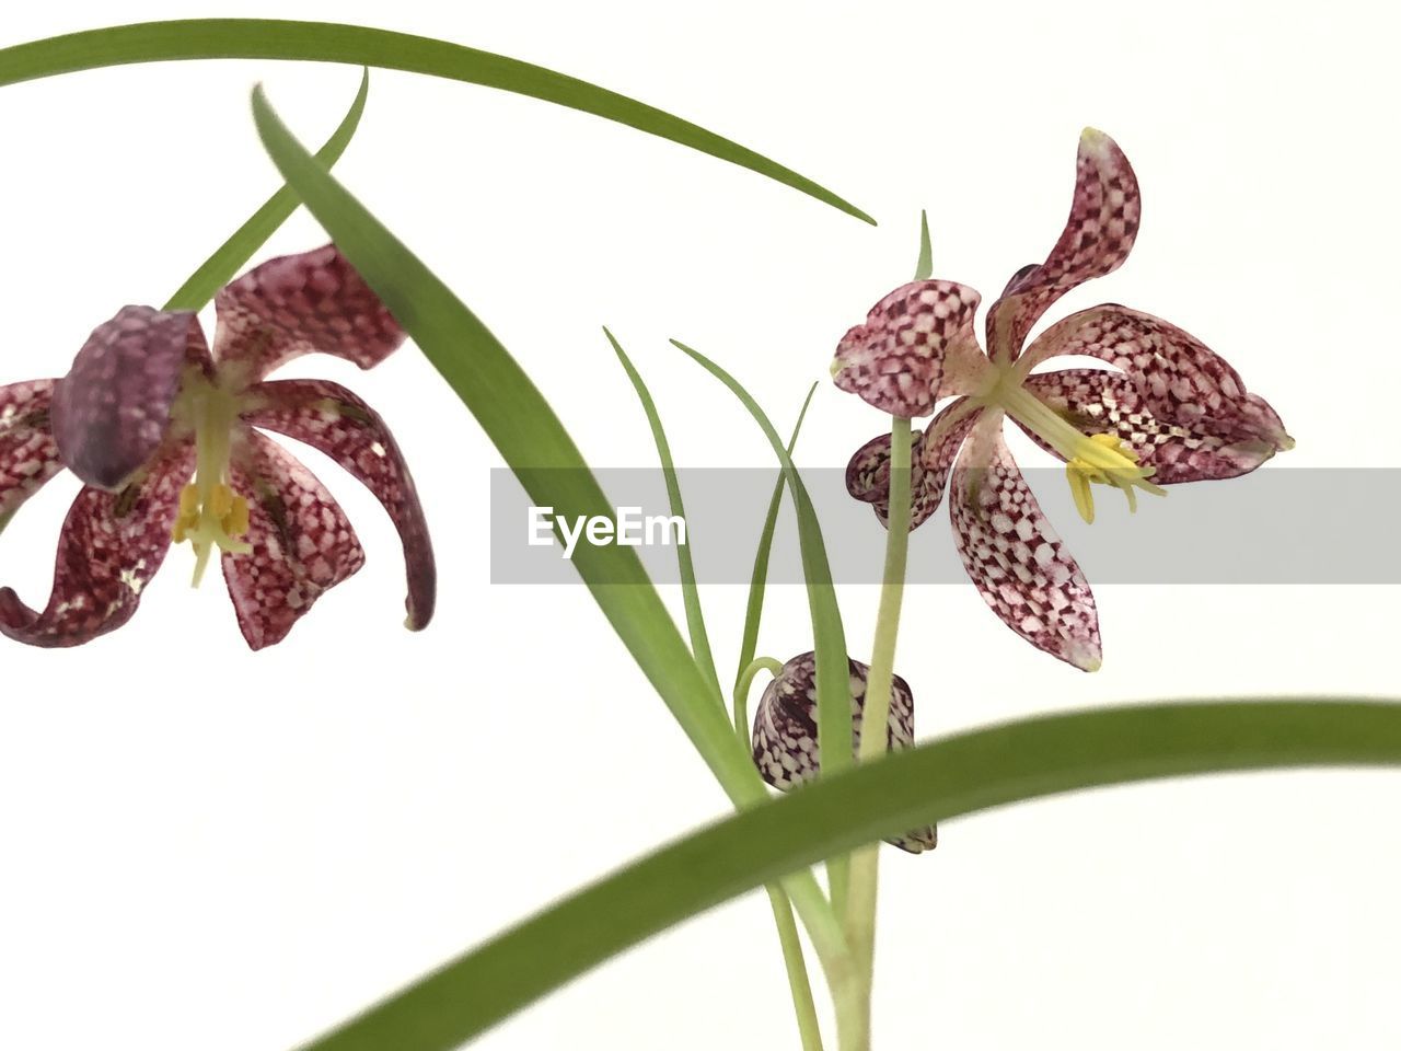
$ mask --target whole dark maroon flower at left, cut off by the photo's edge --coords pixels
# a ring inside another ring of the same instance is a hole
[[[220,554],[252,649],[286,638],[364,563],[340,506],[263,432],[318,448],[380,499],[403,541],[408,621],[433,615],[436,570],[419,497],[380,416],[326,380],[268,380],[329,353],[371,369],[402,342],[384,304],[333,245],[272,259],[216,298],[213,350],[192,311],[123,307],[62,380],[0,387],[0,517],[62,468],[84,483],[59,537],[42,611],[0,589],[0,632],[76,646],[115,631],[172,541],[195,582]]]

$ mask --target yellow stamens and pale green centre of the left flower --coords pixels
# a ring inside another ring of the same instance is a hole
[[[203,373],[185,377],[172,415],[195,432],[195,481],[179,495],[179,516],[171,528],[177,544],[195,548],[195,587],[205,577],[214,548],[247,555],[252,548],[237,540],[248,533],[248,500],[228,485],[228,458],[240,399]]]

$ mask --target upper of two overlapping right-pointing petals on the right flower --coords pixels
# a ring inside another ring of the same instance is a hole
[[[1072,314],[1027,350],[1026,367],[1056,355],[1097,357],[1124,371],[1157,419],[1226,443],[1293,446],[1279,415],[1248,394],[1220,355],[1177,325],[1142,311],[1105,304]]]

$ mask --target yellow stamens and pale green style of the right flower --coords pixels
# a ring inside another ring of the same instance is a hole
[[[1026,377],[1016,369],[1002,369],[981,395],[989,405],[998,405],[1027,430],[1045,441],[1065,458],[1065,475],[1075,496],[1076,510],[1086,521],[1094,521],[1094,495],[1090,485],[1112,485],[1124,492],[1129,510],[1138,510],[1142,489],[1153,496],[1167,496],[1160,485],[1147,481],[1154,468],[1139,467],[1138,454],[1114,434],[1082,434],[1055,409],[1023,385]]]

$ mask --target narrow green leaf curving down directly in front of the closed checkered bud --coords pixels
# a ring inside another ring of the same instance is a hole
[[[839,774],[855,762],[852,757],[852,694],[850,670],[846,657],[846,633],[842,629],[842,611],[836,605],[836,589],[832,586],[832,568],[822,541],[822,526],[813,510],[807,486],[793,465],[793,458],[783,447],[768,415],[738,380],[717,366],[699,350],[672,339],[671,343],[688,355],[702,369],[730,388],[740,399],[754,422],[759,425],[769,440],[773,454],[783,467],[789,492],[793,493],[793,509],[797,511],[799,549],[803,562],[803,579],[807,582],[807,605],[813,618],[813,650],[817,664],[817,754],[822,776]],[[832,905],[838,912],[846,908],[846,884],[849,859],[832,858],[827,866],[831,884]]]

